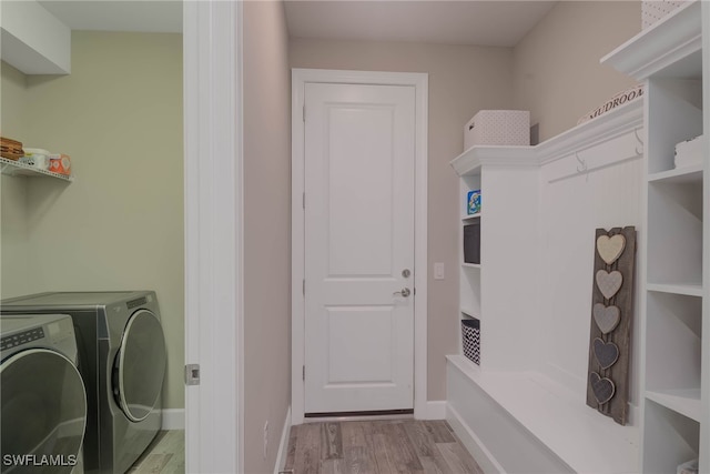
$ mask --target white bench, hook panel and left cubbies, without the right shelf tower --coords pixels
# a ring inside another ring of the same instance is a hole
[[[462,230],[468,191],[481,191],[480,265],[462,263],[459,280],[480,365],[447,357],[447,420],[485,472],[638,472],[638,426],[585,397],[595,228],[640,223],[642,119],[637,100],[538,145],[474,147],[450,163]]]

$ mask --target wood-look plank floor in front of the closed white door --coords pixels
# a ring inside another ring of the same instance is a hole
[[[285,473],[483,474],[445,421],[392,420],[292,426]]]

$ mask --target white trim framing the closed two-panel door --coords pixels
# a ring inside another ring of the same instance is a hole
[[[304,421],[304,122],[303,104],[306,82],[412,85],[416,97],[415,142],[415,269],[414,310],[414,416],[427,413],[427,175],[428,175],[428,74],[415,72],[292,70],[292,424]]]

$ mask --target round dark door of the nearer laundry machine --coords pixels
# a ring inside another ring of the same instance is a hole
[[[87,426],[87,393],[74,364],[58,352],[31,349],[0,365],[2,470],[70,473]]]

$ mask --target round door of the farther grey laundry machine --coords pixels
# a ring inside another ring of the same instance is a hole
[[[165,339],[153,313],[139,310],[129,320],[114,366],[114,395],[132,422],[151,414],[165,375]]]

